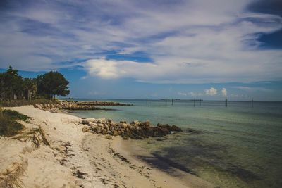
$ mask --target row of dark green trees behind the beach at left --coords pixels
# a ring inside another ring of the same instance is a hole
[[[68,80],[57,71],[50,71],[36,78],[24,78],[18,75],[18,70],[11,66],[0,73],[0,100],[13,99],[53,99],[57,96],[67,96]]]

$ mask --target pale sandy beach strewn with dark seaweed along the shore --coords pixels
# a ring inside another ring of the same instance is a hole
[[[24,132],[42,130],[36,137],[0,137],[0,180],[18,187],[214,187],[180,170],[172,176],[145,163],[130,140],[82,132],[79,117],[33,106],[9,109],[33,118],[23,123]]]

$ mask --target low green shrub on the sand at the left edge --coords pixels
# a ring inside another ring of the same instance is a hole
[[[17,120],[28,122],[31,118],[17,111],[2,110],[0,108],[0,136],[11,137],[23,130],[23,125]]]

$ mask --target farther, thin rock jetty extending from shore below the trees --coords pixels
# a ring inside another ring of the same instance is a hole
[[[35,108],[39,108],[45,111],[57,111],[57,110],[111,110],[109,108],[99,108],[95,106],[131,106],[131,104],[121,104],[108,101],[56,101],[54,104],[35,104]]]

